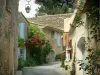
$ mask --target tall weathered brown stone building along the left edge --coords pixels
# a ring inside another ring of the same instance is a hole
[[[0,74],[17,70],[18,1],[0,0]]]

